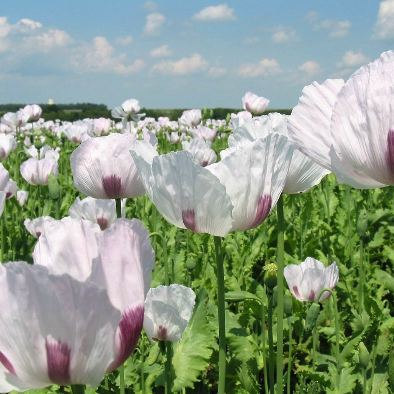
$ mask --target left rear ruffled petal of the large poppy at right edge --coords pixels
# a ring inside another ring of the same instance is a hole
[[[322,85],[313,82],[305,86],[288,119],[291,143],[328,170],[331,170],[332,143],[329,125],[336,96],[343,85],[342,79],[328,79]]]

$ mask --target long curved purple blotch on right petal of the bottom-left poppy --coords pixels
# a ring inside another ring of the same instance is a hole
[[[116,358],[109,367],[107,372],[121,366],[134,351],[137,346],[139,336],[142,331],[144,322],[144,306],[139,305],[134,309],[129,309],[122,314],[122,320],[119,323],[120,347],[117,349]]]

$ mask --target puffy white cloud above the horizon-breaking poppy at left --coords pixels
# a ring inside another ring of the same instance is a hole
[[[95,37],[93,44],[82,45],[75,51],[71,56],[71,63],[80,72],[102,71],[117,74],[130,74],[145,66],[145,62],[140,59],[126,66],[125,58],[125,54],[115,54],[115,48],[105,37]]]

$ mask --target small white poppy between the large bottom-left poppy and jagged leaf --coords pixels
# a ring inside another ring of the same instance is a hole
[[[145,299],[144,330],[152,343],[178,342],[193,316],[196,294],[172,284],[150,289]]]

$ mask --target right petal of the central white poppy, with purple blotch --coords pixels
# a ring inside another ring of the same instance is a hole
[[[273,133],[206,167],[226,186],[234,204],[231,230],[249,230],[263,223],[283,191],[292,154],[288,139]]]

